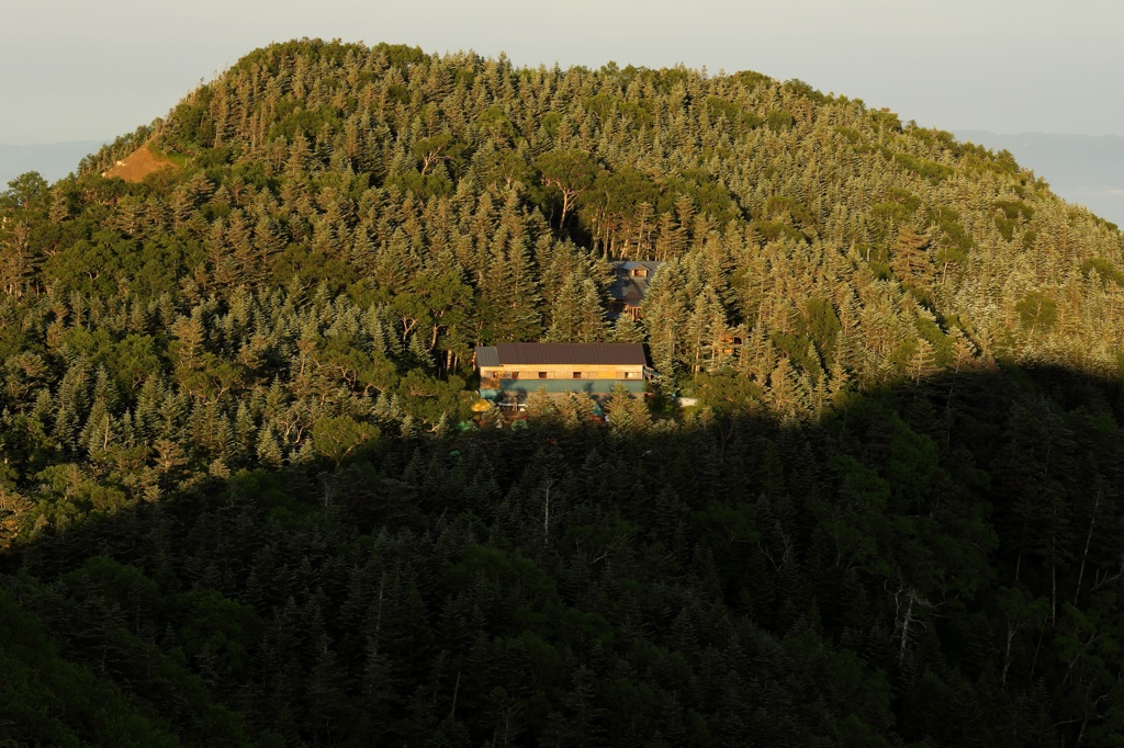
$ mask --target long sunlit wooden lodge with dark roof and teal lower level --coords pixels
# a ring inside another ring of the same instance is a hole
[[[654,373],[638,343],[500,343],[475,353],[480,396],[497,403],[519,403],[543,389],[598,400],[618,384],[642,395]]]

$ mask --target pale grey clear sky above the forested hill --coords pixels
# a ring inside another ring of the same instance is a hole
[[[1122,0],[2,0],[0,144],[111,138],[293,37],[798,77],[942,129],[1124,136]]]

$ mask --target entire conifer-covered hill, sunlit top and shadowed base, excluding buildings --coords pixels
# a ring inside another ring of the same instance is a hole
[[[474,417],[513,340],[661,377]],[[1120,745],[1122,341],[1117,227],[888,110],[256,51],[0,194],[0,738]]]

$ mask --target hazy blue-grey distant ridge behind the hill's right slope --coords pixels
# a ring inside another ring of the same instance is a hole
[[[1124,226],[1124,138],[1060,133],[1001,134],[955,130],[957,138],[996,150],[1006,148],[1070,202]]]

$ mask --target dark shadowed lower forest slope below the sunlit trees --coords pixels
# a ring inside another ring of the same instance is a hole
[[[691,421],[396,437],[40,531],[0,556],[0,602],[94,685],[25,675],[8,697],[57,708],[2,727],[1057,745],[1120,724],[1118,380],[1003,366],[819,419]]]

